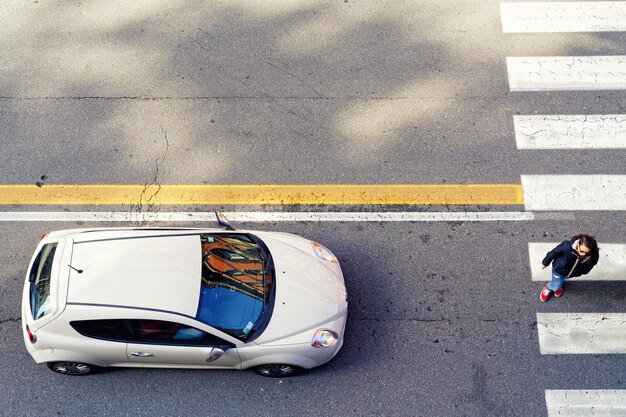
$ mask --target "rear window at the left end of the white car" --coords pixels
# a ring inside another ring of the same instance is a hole
[[[30,311],[35,320],[52,312],[50,305],[50,275],[57,244],[48,243],[41,248],[30,269]]]

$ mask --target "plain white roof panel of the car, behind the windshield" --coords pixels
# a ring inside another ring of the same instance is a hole
[[[202,267],[198,230],[108,229],[71,238],[68,303],[196,315]]]

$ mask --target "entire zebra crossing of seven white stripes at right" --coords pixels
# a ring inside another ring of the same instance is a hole
[[[626,31],[626,1],[501,2],[500,14],[504,33]],[[506,66],[513,93],[626,90],[626,55],[510,56]],[[554,110],[514,116],[519,150],[626,149],[626,114],[559,115]],[[626,175],[558,174],[521,176],[527,210],[626,210]],[[542,269],[541,260],[557,243],[528,244],[533,282],[550,279],[550,268]],[[626,280],[626,244],[603,243],[600,253],[597,267],[584,279]],[[626,354],[626,312],[536,315],[542,355]],[[549,388],[548,416],[626,415],[626,390]]]

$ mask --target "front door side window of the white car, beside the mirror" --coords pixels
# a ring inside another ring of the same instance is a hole
[[[232,345],[217,336],[194,327],[162,320],[128,320],[132,341],[167,345],[222,346]]]

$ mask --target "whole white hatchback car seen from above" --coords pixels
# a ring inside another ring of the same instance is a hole
[[[37,363],[219,368],[285,377],[343,344],[347,292],[322,245],[275,232],[102,228],[45,235],[22,298]]]

